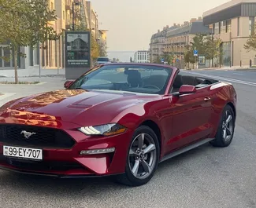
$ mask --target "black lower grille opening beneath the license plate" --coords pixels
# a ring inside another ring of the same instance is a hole
[[[29,160],[21,159],[9,159],[5,157],[0,157],[0,162],[5,162],[13,167],[24,169],[24,170],[34,170],[34,171],[67,171],[67,170],[83,170],[83,166],[76,162],[61,162],[61,161],[40,161],[33,162]]]

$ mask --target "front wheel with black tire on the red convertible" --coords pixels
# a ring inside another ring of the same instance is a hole
[[[158,137],[148,126],[139,126],[128,148],[125,173],[117,182],[128,186],[147,184],[158,167],[160,147]]]

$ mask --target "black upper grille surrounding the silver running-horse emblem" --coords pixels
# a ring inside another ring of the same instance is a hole
[[[32,134],[25,138],[22,131]],[[0,125],[0,142],[34,148],[72,148],[75,141],[63,130],[27,125]]]

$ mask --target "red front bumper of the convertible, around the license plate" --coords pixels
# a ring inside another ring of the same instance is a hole
[[[124,173],[128,146],[132,138],[131,130],[113,137],[87,137],[77,130],[66,132],[76,140],[76,144],[70,149],[42,148],[42,161],[6,157],[3,155],[3,145],[15,145],[0,143],[0,169],[62,178],[102,177]],[[115,151],[80,155],[80,151],[100,148],[115,148]]]

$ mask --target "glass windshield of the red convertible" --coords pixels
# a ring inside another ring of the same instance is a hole
[[[165,93],[171,68],[151,65],[105,65],[78,78],[69,89]]]

